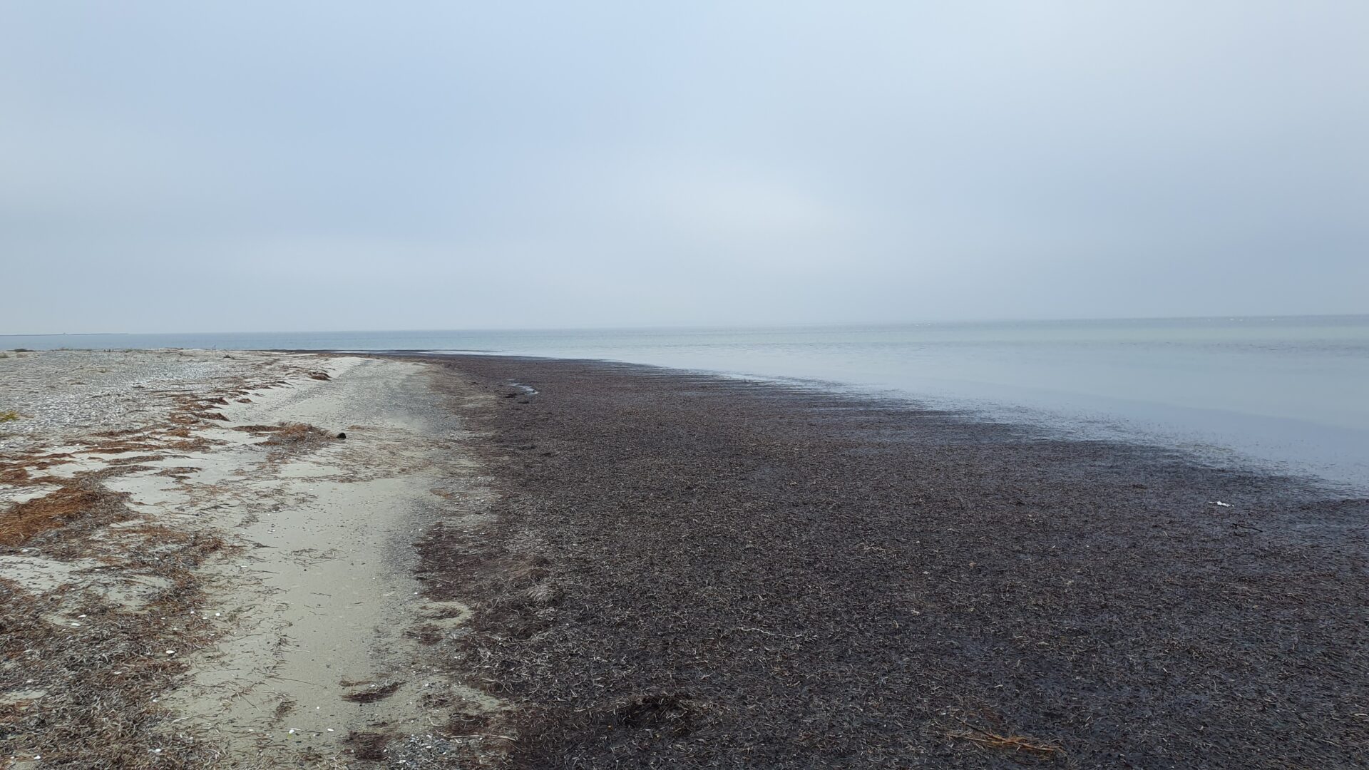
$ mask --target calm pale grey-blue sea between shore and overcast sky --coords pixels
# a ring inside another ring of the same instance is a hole
[[[819,380],[1369,489],[1369,315],[0,337],[19,347],[481,351]]]

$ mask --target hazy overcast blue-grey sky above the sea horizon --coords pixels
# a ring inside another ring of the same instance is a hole
[[[1369,3],[0,3],[0,332],[1369,312]]]

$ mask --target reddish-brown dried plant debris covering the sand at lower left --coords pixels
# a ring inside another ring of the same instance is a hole
[[[7,551],[59,559],[77,578],[45,592],[0,580],[0,755],[53,767],[203,767],[222,752],[175,733],[159,695],[212,641],[193,570],[226,545],[138,522],[105,477],[66,480],[0,514]],[[115,574],[145,588],[140,601],[103,589]]]

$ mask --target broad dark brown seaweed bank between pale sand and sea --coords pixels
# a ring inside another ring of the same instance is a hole
[[[515,707],[452,729],[517,767],[1369,765],[1366,500],[802,388],[444,364],[497,517],[420,577]]]

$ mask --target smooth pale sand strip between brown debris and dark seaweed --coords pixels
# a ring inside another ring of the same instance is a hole
[[[193,682],[170,700],[235,745],[331,754],[350,730],[430,730],[446,714],[424,708],[426,695],[497,708],[424,667],[407,636],[433,614],[418,601],[412,544],[438,518],[450,523],[450,496],[471,492],[453,488],[470,471],[460,427],[435,403],[423,364],[334,359],[324,369],[334,380],[226,414],[231,425],[307,422],[345,440],[303,455],[219,451],[196,458],[203,470],[185,482],[201,511],[256,544],[219,569],[214,611],[237,632],[196,659]],[[346,699],[382,692],[372,703]]]

